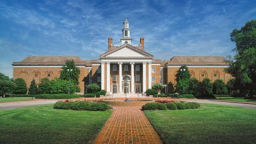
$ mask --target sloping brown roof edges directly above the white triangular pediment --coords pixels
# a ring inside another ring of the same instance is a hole
[[[132,48],[132,49],[135,50],[135,51],[139,51],[139,52],[141,52],[141,53],[144,53],[144,54],[148,55],[148,57],[154,57],[154,55],[152,55],[152,54],[146,52],[145,50],[142,50],[140,46],[132,46],[132,45],[130,45],[130,44],[123,44],[123,45],[121,45],[121,46],[111,46],[111,47],[109,47],[109,49],[108,49],[105,53],[102,53],[102,54],[100,55],[100,57],[104,57],[104,56],[106,56],[106,55],[108,55],[108,54],[110,54],[110,53],[113,53],[113,52],[115,52],[115,51],[118,51],[119,49],[122,49],[122,48],[125,47],[125,46],[130,47],[130,48]]]

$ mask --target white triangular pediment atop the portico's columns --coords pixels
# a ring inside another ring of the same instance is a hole
[[[101,57],[135,57],[135,58],[142,58],[142,57],[152,57],[153,55],[148,54],[147,52],[143,52],[142,50],[138,50],[131,45],[125,44],[123,46],[117,47],[113,51],[101,55]]]

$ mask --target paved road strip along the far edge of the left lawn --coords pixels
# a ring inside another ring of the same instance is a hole
[[[34,106],[34,105],[44,105],[55,103],[58,100],[34,100],[34,101],[15,101],[15,102],[5,102],[0,103],[0,109],[12,109],[26,106]]]

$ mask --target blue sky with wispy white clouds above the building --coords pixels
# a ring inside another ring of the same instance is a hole
[[[155,59],[223,55],[230,32],[256,19],[256,1],[0,1],[0,72],[27,55],[78,55],[98,59],[108,37],[119,44],[123,21],[133,43],[145,37]]]

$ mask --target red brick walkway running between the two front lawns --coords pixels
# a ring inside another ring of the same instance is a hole
[[[162,143],[141,106],[113,107],[115,110],[95,143]]]

